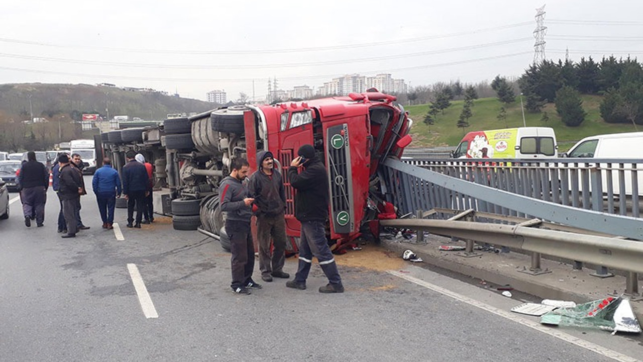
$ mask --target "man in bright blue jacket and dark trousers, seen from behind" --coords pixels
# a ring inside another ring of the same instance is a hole
[[[118,171],[112,168],[112,161],[109,157],[103,158],[103,167],[94,173],[91,186],[96,195],[96,202],[98,202],[103,229],[114,229],[114,206],[116,198],[121,194],[121,184]]]

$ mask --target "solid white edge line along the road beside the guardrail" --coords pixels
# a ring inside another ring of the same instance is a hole
[[[602,356],[609,357],[611,359],[614,359],[616,361],[620,362],[641,362],[640,360],[626,356],[624,354],[621,354],[619,352],[616,352],[615,350],[611,350],[609,348],[605,348],[599,345],[596,345],[592,342],[584,341],[583,339],[574,337],[570,334],[566,334],[563,332],[559,332],[557,330],[554,330],[550,327],[545,327],[541,325],[540,323],[536,323],[534,321],[530,321],[528,319],[523,319],[515,314],[512,314],[511,312],[506,312],[505,310],[498,309],[496,307],[493,307],[491,305],[488,305],[486,303],[482,303],[482,301],[477,301],[475,299],[467,298],[466,296],[463,296],[462,294],[458,294],[456,292],[449,291],[448,289],[444,289],[442,287],[439,287],[437,285],[428,283],[427,281],[414,278],[413,276],[405,275],[401,272],[398,271],[386,271],[389,274],[392,274],[394,276],[397,276],[399,278],[408,280],[412,283],[415,283],[417,285],[421,285],[422,287],[425,287],[426,289],[431,289],[431,291],[439,292],[440,294],[444,294],[446,296],[449,296],[455,300],[463,301],[464,303],[467,303],[469,305],[473,305],[474,307],[478,307],[482,310],[486,310],[487,312],[491,312],[493,314],[496,314],[498,316],[501,316],[503,318],[510,319],[516,323],[520,323],[521,325],[524,325],[525,327],[529,327],[531,329],[538,330],[539,332],[543,332],[545,334],[548,334],[552,337],[562,339],[563,341],[566,341],[568,343],[572,343],[572,345],[577,345],[578,347],[585,348],[587,350],[591,350],[593,352],[596,352],[597,354],[601,354]]]

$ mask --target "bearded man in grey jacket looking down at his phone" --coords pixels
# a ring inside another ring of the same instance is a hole
[[[248,196],[248,186],[243,180],[248,175],[249,164],[243,158],[235,158],[230,166],[230,176],[219,184],[219,205],[226,213],[225,231],[230,237],[230,264],[232,269],[233,293],[250,294],[248,289],[260,289],[261,285],[252,280],[255,268],[255,245],[252,242],[250,218],[252,202]]]

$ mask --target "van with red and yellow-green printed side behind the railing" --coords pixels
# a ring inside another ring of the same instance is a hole
[[[556,158],[556,133],[548,127],[520,127],[467,133],[453,158]]]

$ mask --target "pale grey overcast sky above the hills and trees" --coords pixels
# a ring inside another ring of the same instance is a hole
[[[542,1],[5,1],[0,84],[109,82],[205,99],[391,73],[411,86],[519,76]],[[548,59],[643,53],[643,1],[545,6]],[[253,90],[254,80],[254,90]]]

